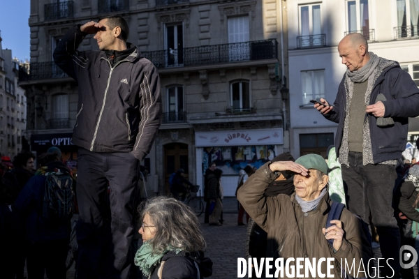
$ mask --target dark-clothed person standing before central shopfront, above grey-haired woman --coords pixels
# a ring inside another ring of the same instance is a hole
[[[210,200],[211,207],[213,207],[212,213],[210,215],[210,225],[220,226],[221,223],[219,219],[221,217],[221,211],[223,210],[223,204],[221,203],[221,193],[220,193],[220,181],[221,174],[223,171],[221,169],[214,169],[214,173],[208,176],[208,199]]]

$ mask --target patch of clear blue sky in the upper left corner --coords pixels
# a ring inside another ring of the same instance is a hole
[[[0,0],[1,47],[23,61],[30,59],[30,5],[30,0]]]

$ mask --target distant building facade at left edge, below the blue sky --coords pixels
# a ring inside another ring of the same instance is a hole
[[[0,35],[0,154],[8,161],[22,151],[26,129],[26,96],[18,85],[20,61],[1,49]]]

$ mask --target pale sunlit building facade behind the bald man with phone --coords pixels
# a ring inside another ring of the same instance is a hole
[[[398,61],[419,85],[418,18],[418,0],[288,1],[290,142],[294,156],[313,152],[325,155],[328,146],[335,144],[337,124],[324,119],[309,100],[335,101],[346,70],[337,45],[346,34],[362,33],[370,52]],[[411,143],[418,133],[418,119],[410,119]],[[413,145],[409,152],[415,153]],[[405,156],[411,157],[408,153]]]

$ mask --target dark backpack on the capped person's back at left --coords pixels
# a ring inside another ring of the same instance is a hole
[[[75,211],[75,181],[68,172],[47,172],[42,217],[50,223],[64,223]]]

